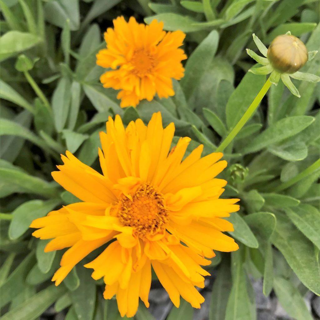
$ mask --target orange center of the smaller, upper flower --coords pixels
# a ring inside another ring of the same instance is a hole
[[[133,53],[131,63],[133,65],[132,73],[137,76],[143,77],[152,73],[156,66],[154,56],[147,50],[139,49]]]

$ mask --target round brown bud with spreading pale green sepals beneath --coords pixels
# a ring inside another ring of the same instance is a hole
[[[285,35],[277,36],[267,49],[260,39],[253,34],[253,41],[257,45],[259,51],[265,56],[261,57],[254,51],[247,49],[248,55],[263,65],[259,68],[251,68],[249,71],[256,75],[270,74],[270,82],[277,85],[280,78],[284,85],[300,98],[300,93],[292,79],[306,80],[309,82],[319,82],[320,77],[311,73],[298,71],[307,61],[312,60],[317,51],[308,52],[304,43],[297,37],[292,36],[290,31]]]

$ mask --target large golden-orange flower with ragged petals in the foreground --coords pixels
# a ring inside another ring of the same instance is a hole
[[[160,113],[148,126],[140,119],[124,128],[120,116],[109,117],[100,133],[99,159],[103,174],[70,152],[60,171],[52,172],[63,188],[83,202],[69,204],[32,222],[33,235],[52,239],[45,252],[70,247],[52,280],[56,285],[96,248],[104,251],[85,265],[92,278],[103,277],[104,298],[116,295],[122,316],[133,316],[139,297],[148,307],[151,266],[170,299],[179,307],[180,295],[195,308],[204,298],[209,273],[200,265],[213,250],[235,251],[238,245],[223,234],[239,199],[220,199],[227,181],[215,178],[226,166],[222,153],[201,158],[203,146],[184,160],[190,138],[180,138],[171,150],[174,124],[165,129]]]

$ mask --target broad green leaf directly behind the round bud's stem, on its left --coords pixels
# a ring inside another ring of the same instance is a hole
[[[227,106],[226,117],[228,128],[233,128],[250,106],[257,93],[265,83],[265,76],[256,76],[248,72],[236,90],[231,94]]]

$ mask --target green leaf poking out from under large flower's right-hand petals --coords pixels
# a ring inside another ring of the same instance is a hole
[[[234,212],[230,217],[225,218],[233,224],[235,231],[228,232],[231,236],[241,241],[247,247],[258,248],[258,240],[252,233],[247,223],[240,217],[237,212]]]

